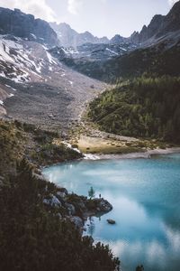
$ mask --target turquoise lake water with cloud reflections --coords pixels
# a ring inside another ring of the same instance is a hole
[[[85,234],[110,244],[123,271],[139,264],[145,271],[180,270],[180,154],[79,161],[43,173],[68,192],[87,196],[93,186],[112,203],[111,212],[87,221]]]

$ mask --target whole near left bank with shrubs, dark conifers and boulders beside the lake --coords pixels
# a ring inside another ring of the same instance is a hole
[[[102,199],[69,194],[46,181],[37,168],[81,157],[53,144],[57,137],[0,120],[0,270],[119,270],[120,261],[108,246],[82,237],[84,212],[101,210]]]

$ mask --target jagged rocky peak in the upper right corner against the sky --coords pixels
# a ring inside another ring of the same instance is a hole
[[[132,33],[130,40],[136,43],[151,44],[163,36],[180,31],[180,1],[176,2],[166,16],[157,14],[148,26],[144,25],[140,33]]]

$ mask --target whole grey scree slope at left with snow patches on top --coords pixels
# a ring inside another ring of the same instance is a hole
[[[8,35],[0,36],[0,83],[1,115],[54,128],[78,120],[85,102],[103,89],[53,58],[47,46]]]

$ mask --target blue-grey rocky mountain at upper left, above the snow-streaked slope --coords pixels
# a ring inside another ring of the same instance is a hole
[[[58,45],[57,34],[49,23],[35,19],[31,14],[23,14],[19,9],[0,7],[0,34],[10,34],[49,46]]]

